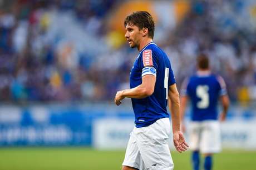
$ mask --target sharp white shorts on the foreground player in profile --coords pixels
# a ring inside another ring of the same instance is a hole
[[[158,119],[147,127],[134,127],[122,166],[140,170],[172,170],[174,164],[168,145],[170,131],[169,118]]]

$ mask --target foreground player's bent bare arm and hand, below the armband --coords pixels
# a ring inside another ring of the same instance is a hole
[[[115,103],[117,106],[121,104],[121,100],[125,97],[128,98],[145,98],[151,96],[155,89],[156,76],[146,74],[142,77],[142,83],[131,89],[118,91],[115,96]]]

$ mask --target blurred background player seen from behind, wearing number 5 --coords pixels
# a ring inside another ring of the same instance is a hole
[[[223,106],[220,121],[224,121],[229,107],[229,98],[223,78],[210,72],[209,59],[205,54],[197,58],[198,72],[185,79],[181,88],[181,119],[188,99],[191,101],[191,122],[189,127],[190,148],[193,169],[200,169],[200,153],[204,154],[204,169],[210,170],[213,153],[220,152],[220,125],[218,101]],[[185,128],[184,128],[185,129]]]

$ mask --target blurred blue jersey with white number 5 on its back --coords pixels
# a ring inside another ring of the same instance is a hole
[[[200,71],[186,79],[181,94],[191,99],[192,121],[217,120],[218,99],[220,95],[226,95],[227,90],[223,78]]]

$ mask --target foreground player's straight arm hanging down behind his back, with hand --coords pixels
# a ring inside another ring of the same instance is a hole
[[[168,104],[171,112],[171,121],[173,124],[173,142],[178,152],[188,149],[183,133],[180,130],[180,97],[176,84],[169,86]]]

